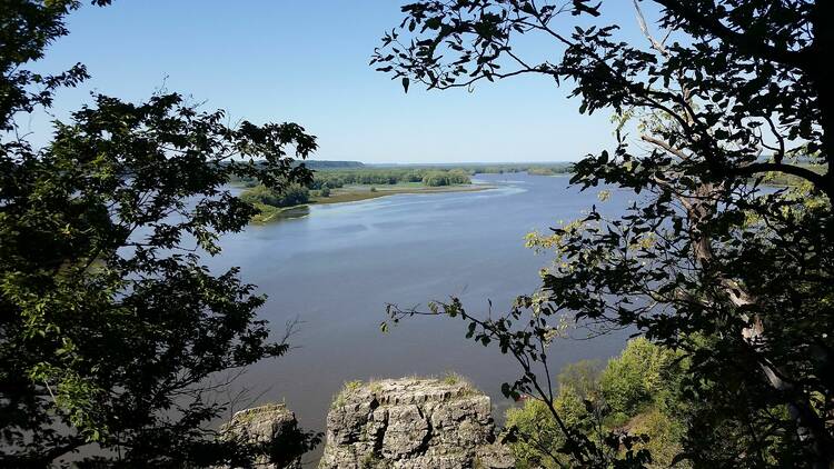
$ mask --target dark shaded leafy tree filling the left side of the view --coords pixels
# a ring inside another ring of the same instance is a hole
[[[257,319],[254,286],[199,252],[217,255],[256,212],[230,178],[307,183],[289,156],[315,138],[294,123],[230,128],[176,93],[97,94],[36,149],[17,119],[87,72],[27,67],[80,2],[0,3],[0,466],[47,467],[82,447],[82,467],[249,463],[258,448],[211,430],[228,403],[218,391],[288,346]]]

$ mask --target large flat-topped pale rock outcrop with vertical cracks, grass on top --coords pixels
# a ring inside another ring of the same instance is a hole
[[[459,379],[348,383],[327,416],[319,469],[504,469],[489,398]]]

